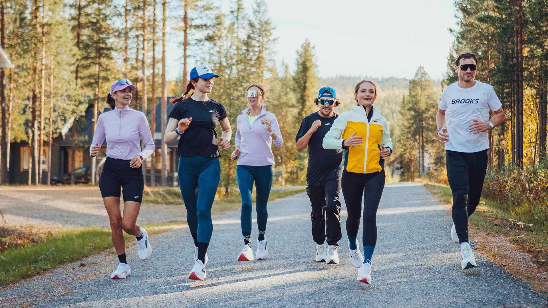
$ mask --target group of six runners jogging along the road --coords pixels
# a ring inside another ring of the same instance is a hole
[[[486,174],[487,130],[505,120],[493,87],[475,80],[476,69],[475,55],[463,53],[456,59],[455,72],[459,80],[443,90],[436,117],[436,134],[445,144],[447,175],[453,191],[454,224],[450,236],[460,243],[463,270],[477,266],[468,242],[467,221],[479,203]],[[206,65],[191,70],[186,92],[172,100],[174,108],[169,114],[163,140],[169,144],[179,139],[179,186],[194,241],[195,264],[189,273],[191,280],[204,280],[207,276],[207,249],[213,232],[211,209],[221,172],[219,147],[222,150],[231,147],[232,129],[226,109],[208,96],[212,93],[213,78],[218,77]],[[107,159],[99,187],[119,259],[117,270],[111,275],[113,279],[123,279],[130,274],[123,231],[136,237],[140,260],[147,260],[152,254],[147,232],[136,225],[136,218],[144,189],[141,162],[153,153],[155,144],[145,115],[129,107],[135,90],[135,85],[128,79],[112,83],[107,95],[107,104],[112,111],[99,116],[90,147],[90,156],[95,157],[106,139]],[[392,154],[386,118],[373,107],[376,96],[376,85],[362,80],[355,88],[357,105],[338,115],[334,108],[340,101],[335,90],[323,87],[314,100],[318,111],[302,119],[295,136],[297,151],[308,147],[306,192],[312,207],[310,217],[312,238],[316,242],[315,260],[340,263],[339,195],[342,189],[347,209],[350,262],[358,268],[357,281],[367,284],[372,282],[372,256],[377,240],[376,212],[385,184],[384,162]],[[237,159],[236,175],[242,197],[243,249],[237,255],[237,261],[254,260],[251,244],[254,183],[258,226],[255,258],[263,260],[269,256],[265,233],[272,166],[275,164],[271,147],[272,144],[278,147],[283,144],[276,116],[264,107],[264,88],[260,84],[250,84],[245,97],[248,107],[237,117],[235,150],[231,153],[231,159]],[[494,112],[491,119],[489,111]],[[216,133],[218,125],[222,130],[220,138]],[[141,140],[144,150],[141,150]],[[123,215],[119,206],[121,188]],[[357,239],[362,216],[363,254]]]

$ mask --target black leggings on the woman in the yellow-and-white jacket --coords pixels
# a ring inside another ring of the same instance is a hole
[[[363,195],[362,241],[364,246],[376,244],[376,211],[379,208],[380,197],[383,195],[384,182],[384,170],[365,174],[343,171],[343,196],[348,212],[346,234],[349,237],[358,235]]]

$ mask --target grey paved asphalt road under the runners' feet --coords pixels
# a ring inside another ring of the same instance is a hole
[[[110,280],[116,257],[105,253],[0,290],[0,306],[38,307],[545,307],[547,299],[485,256],[461,270],[450,241],[450,214],[423,186],[386,184],[378,212],[373,285],[356,281],[348,259],[346,210],[341,213],[340,265],[314,261],[310,203],[305,193],[269,204],[269,259],[237,262],[239,212],[214,219],[208,277],[187,279],[193,265],[190,233],[151,238],[152,258],[128,251],[132,275]],[[254,224],[253,237],[255,238]],[[361,231],[358,233],[361,241]],[[472,243],[473,246],[473,243]],[[253,249],[256,240],[253,240]],[[28,305],[35,306],[35,305]]]

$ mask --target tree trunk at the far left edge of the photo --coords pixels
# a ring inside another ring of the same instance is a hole
[[[5,46],[4,1],[0,1],[0,44]],[[0,104],[2,105],[2,140],[0,141],[0,183],[8,182],[8,142],[6,132],[6,105],[4,94],[4,69],[0,69]]]

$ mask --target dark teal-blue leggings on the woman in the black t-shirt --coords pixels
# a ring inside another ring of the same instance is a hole
[[[211,208],[221,168],[218,157],[180,156],[179,187],[186,207],[186,222],[195,241],[209,243],[213,233]]]

